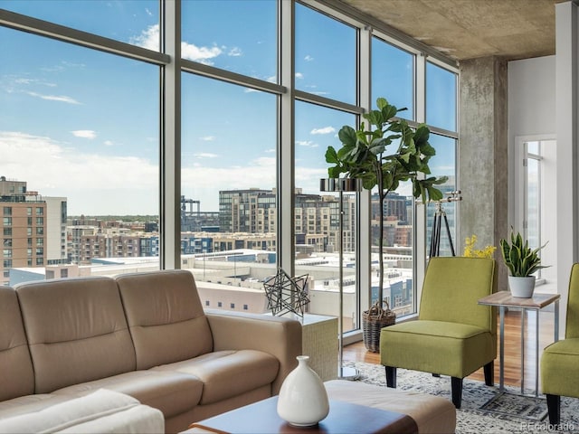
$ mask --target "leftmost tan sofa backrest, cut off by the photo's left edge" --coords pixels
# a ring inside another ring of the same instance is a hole
[[[33,363],[13,288],[0,286],[0,401],[34,392]]]

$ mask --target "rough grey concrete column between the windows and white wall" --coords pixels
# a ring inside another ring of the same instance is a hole
[[[459,203],[457,254],[464,239],[497,246],[498,289],[507,289],[507,269],[498,241],[508,234],[507,62],[487,57],[460,62]]]

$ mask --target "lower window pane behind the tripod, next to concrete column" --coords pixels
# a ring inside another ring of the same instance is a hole
[[[436,149],[436,155],[430,160],[430,167],[433,176],[448,176],[448,181],[445,184],[437,185],[437,188],[444,194],[445,198],[457,197],[457,194],[451,194],[456,191],[456,140],[451,137],[443,137],[437,134],[432,134],[429,142]],[[426,249],[429,254],[432,242],[432,228],[435,223],[441,228],[440,234],[440,255],[451,256],[452,249],[457,256],[462,254],[457,250],[457,246],[461,243],[456,239],[456,202],[443,202],[441,208],[437,211],[435,203],[429,203],[426,208]],[[440,217],[440,218],[439,218]],[[446,231],[448,223],[449,231],[451,232],[451,239],[449,239]],[[452,245],[451,245],[452,243]]]

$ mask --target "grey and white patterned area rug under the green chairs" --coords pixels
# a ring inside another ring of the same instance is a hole
[[[357,381],[386,387],[384,366],[373,363],[345,362],[345,366],[356,367],[360,373]],[[397,388],[403,391],[429,393],[451,400],[451,379],[433,377],[430,373],[419,373],[398,369]],[[506,394],[481,407],[498,395],[498,386],[489,387],[484,382],[468,378],[462,385],[462,405],[457,410],[457,434],[479,433],[527,433],[555,432],[546,417],[546,400],[519,396],[520,388],[506,387]],[[579,433],[579,399],[561,399],[561,430],[556,432]]]

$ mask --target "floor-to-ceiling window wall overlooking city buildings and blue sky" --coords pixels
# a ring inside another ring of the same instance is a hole
[[[385,26],[368,26],[362,15],[314,0],[46,0],[2,7],[0,53],[14,61],[0,65],[0,148],[9,156],[0,176],[14,187],[5,195],[24,203],[22,216],[14,206],[3,215],[4,282],[30,264],[40,272],[39,258],[61,268],[98,263],[101,270],[111,263],[175,263],[195,273],[205,294],[234,294],[204,297],[205,306],[264,311],[263,280],[280,267],[280,252],[289,251],[286,271],[311,278],[308,309],[337,315],[337,305],[322,296],[336,294],[341,248],[351,293],[344,323],[354,330],[365,308],[361,292],[370,292],[357,280],[360,273],[368,282],[375,275],[370,246],[377,225],[372,194],[345,193],[340,209],[337,193],[320,191],[325,151],[339,146],[337,131],[356,127],[377,97],[389,99],[407,108],[401,116],[413,126],[432,127],[433,172],[449,175],[448,188],[456,188],[456,71],[442,56],[430,62],[412,42],[399,44]],[[163,22],[170,14],[159,11],[167,8],[179,19]],[[288,41],[281,29],[289,28]],[[180,59],[166,54],[166,41],[177,34]],[[165,80],[164,67],[173,65],[178,79]],[[175,94],[178,120],[164,110]],[[164,134],[171,127],[178,140]],[[166,170],[164,158],[173,151],[178,165]],[[166,191],[171,180],[174,196]],[[44,201],[66,210],[63,237],[38,239],[48,216],[62,212],[37,215],[42,207],[25,204],[31,192],[38,201],[63,198]],[[291,192],[291,201],[283,192]],[[389,284],[400,289],[389,297],[400,314],[410,313],[413,264],[424,254],[414,234],[425,238],[426,227],[416,214],[424,208],[404,188],[384,206]],[[159,225],[163,210],[178,210],[179,222]],[[344,236],[337,240],[340,215]],[[179,240],[176,250],[162,249],[167,231]],[[52,240],[65,245],[49,250]],[[367,251],[359,251],[360,240],[369,241]],[[44,258],[46,251],[62,254]],[[159,262],[159,255],[178,258]]]

